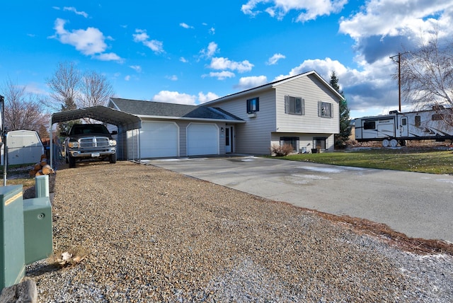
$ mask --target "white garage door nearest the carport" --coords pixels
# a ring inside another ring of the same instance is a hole
[[[140,156],[178,156],[178,125],[173,122],[142,122]]]

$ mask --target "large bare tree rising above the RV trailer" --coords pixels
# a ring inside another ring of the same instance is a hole
[[[400,61],[401,93],[407,103],[419,109],[453,107],[453,42],[441,42],[436,30]]]

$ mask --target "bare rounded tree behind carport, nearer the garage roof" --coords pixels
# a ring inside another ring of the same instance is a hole
[[[113,87],[103,74],[91,71],[86,72],[81,79],[81,93],[79,107],[88,108],[96,105],[105,105],[108,98],[113,96]]]

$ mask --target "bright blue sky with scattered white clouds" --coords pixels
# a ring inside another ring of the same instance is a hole
[[[117,97],[200,104],[335,71],[351,118],[398,109],[389,57],[453,31],[453,0],[2,2],[1,83],[47,96],[57,64],[74,62]]]

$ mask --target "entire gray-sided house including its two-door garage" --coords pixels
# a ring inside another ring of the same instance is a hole
[[[210,154],[270,154],[333,150],[342,96],[316,72],[306,72],[202,105],[110,98],[108,106],[142,119],[130,131],[125,159]]]

